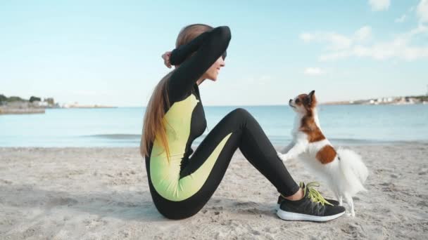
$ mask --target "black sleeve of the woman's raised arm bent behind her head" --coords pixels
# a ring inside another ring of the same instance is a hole
[[[168,81],[168,95],[172,100],[179,100],[187,95],[202,74],[220,56],[225,56],[230,38],[229,27],[216,27],[172,51],[171,65],[180,65],[174,70]],[[191,58],[185,60],[194,52],[196,53]]]

